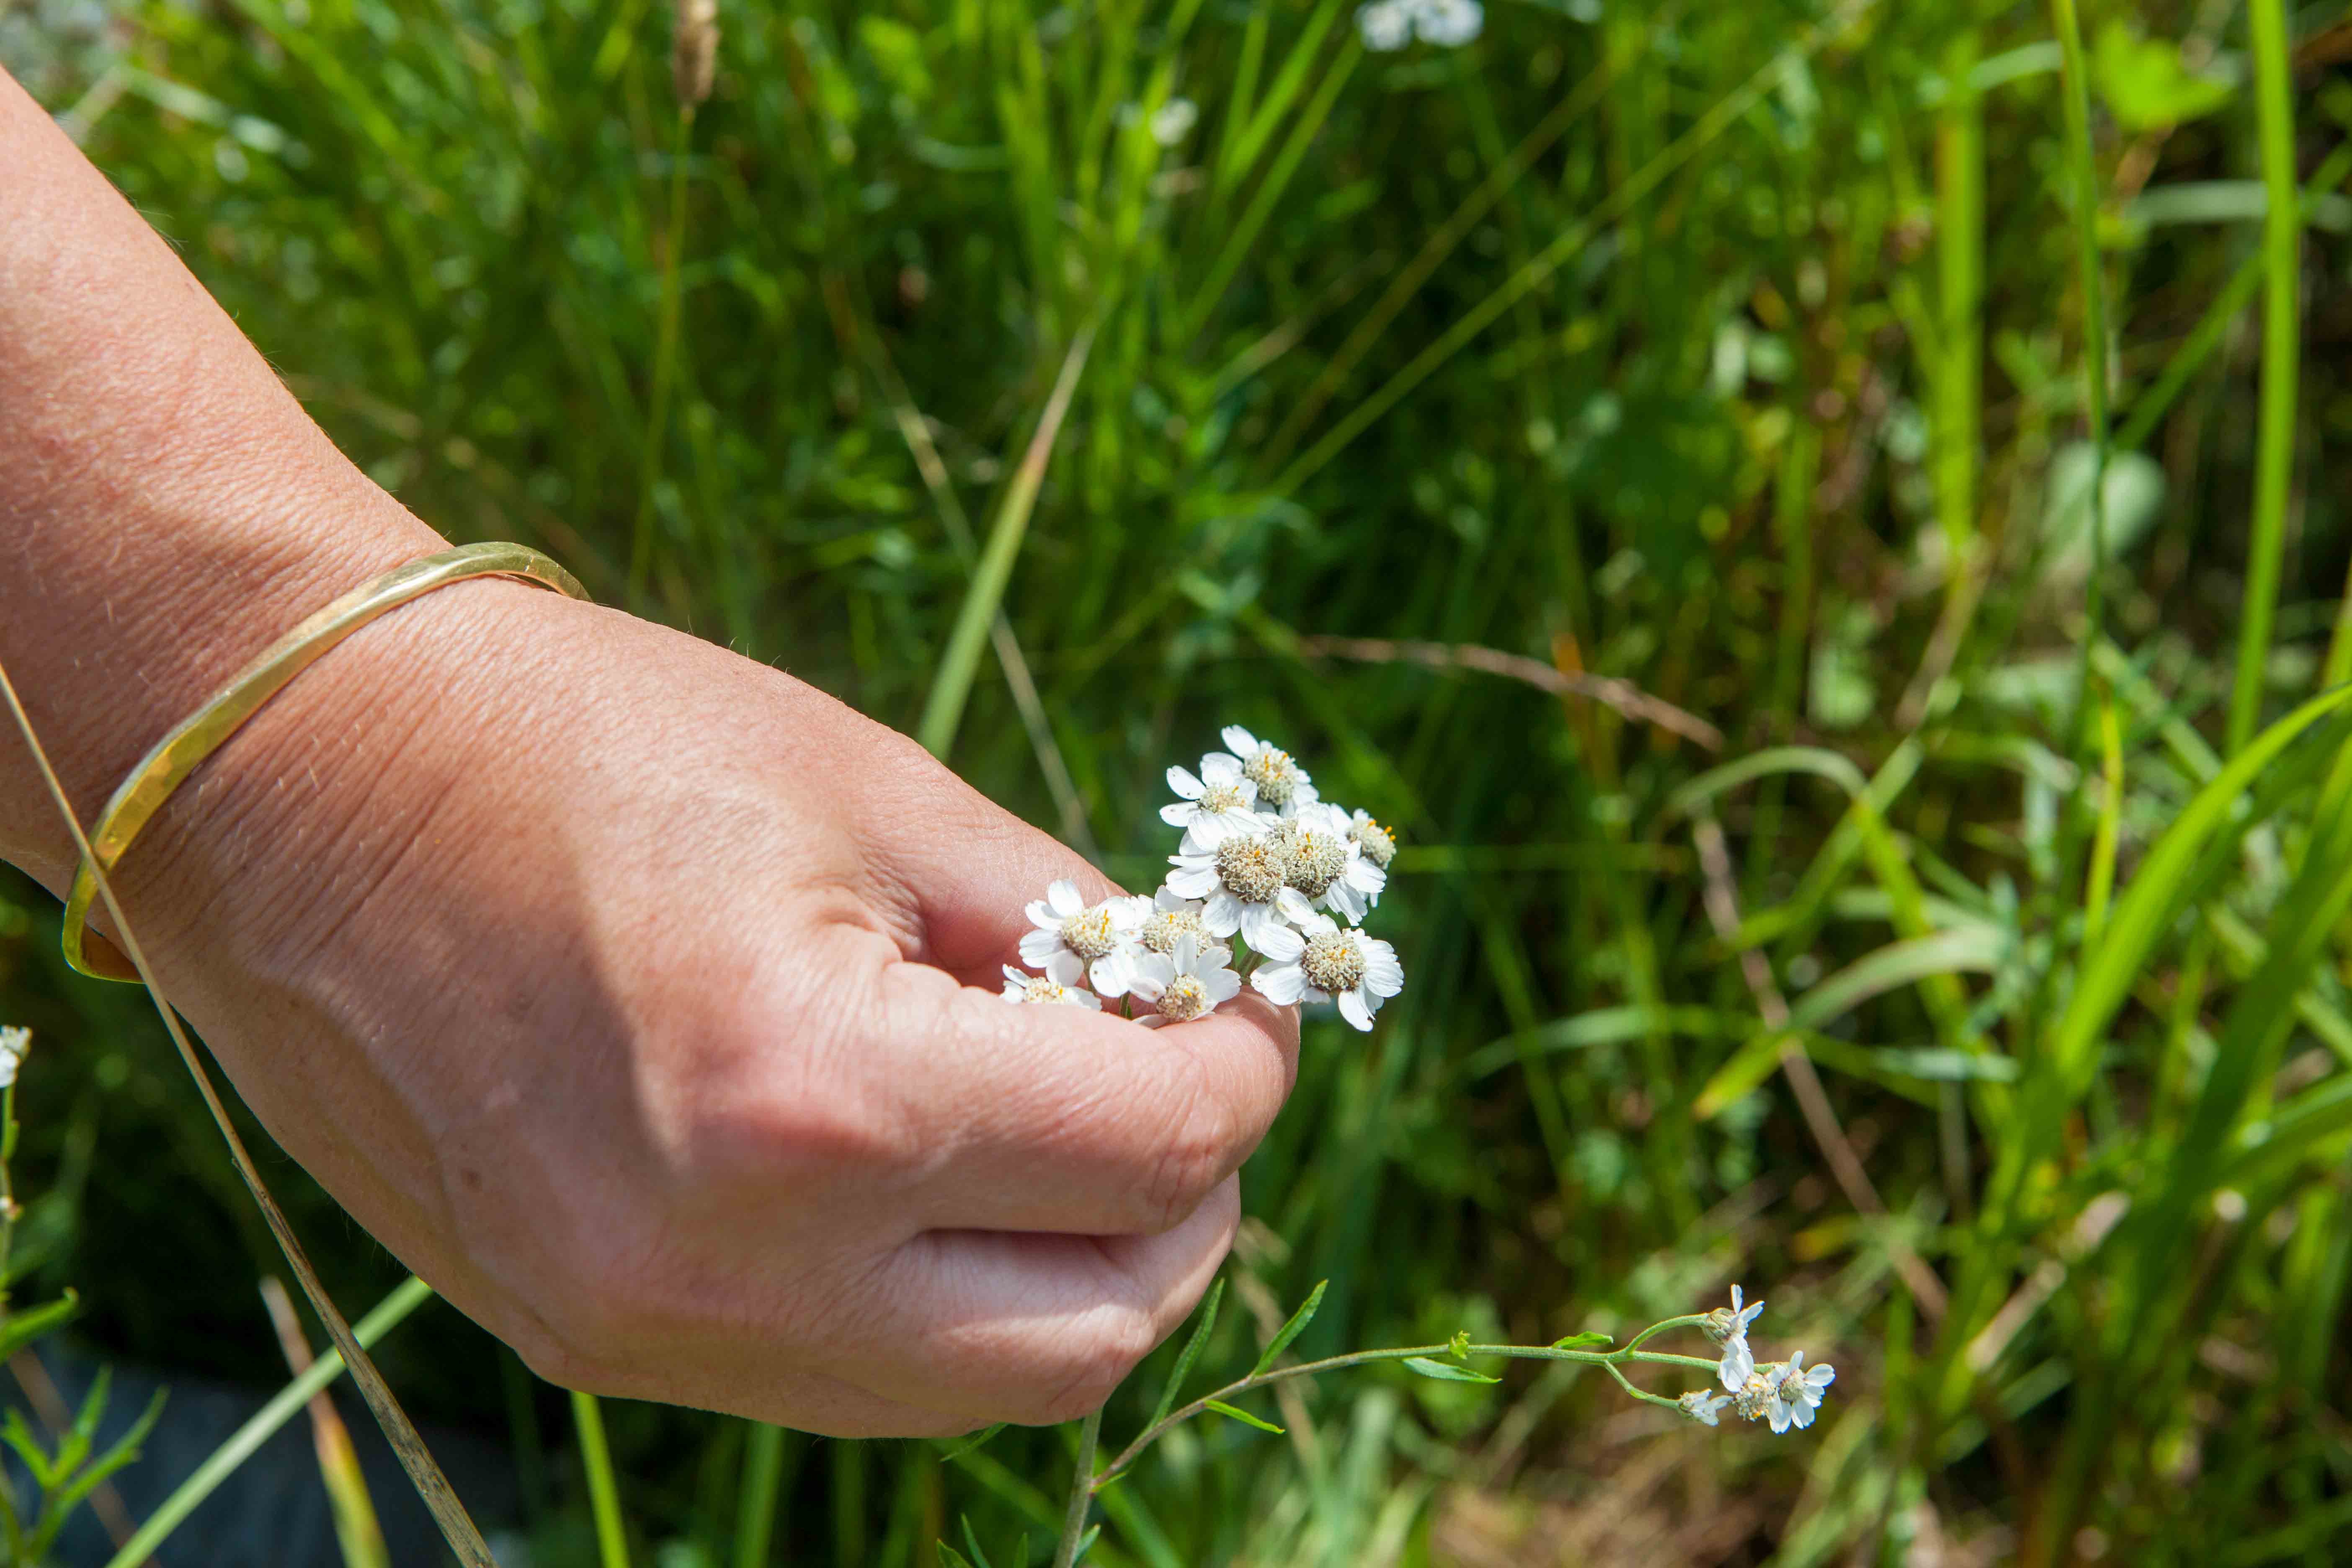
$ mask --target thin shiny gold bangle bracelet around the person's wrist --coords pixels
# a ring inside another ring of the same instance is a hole
[[[588,590],[579,585],[569,571],[550,562],[539,550],[524,545],[463,545],[459,550],[442,550],[440,555],[426,555],[407,567],[393,567],[372,583],[346,592],[341,599],[318,611],[292,632],[273,642],[254,663],[245,665],[235,679],[212,693],[212,701],[188,715],[172,733],[155,743],[122,788],[115,790],[113,799],[106,802],[106,811],[99,813],[96,825],[89,830],[89,849],[99,860],[101,870],[113,872],[122,860],[122,851],[132,846],[139,830],[146,827],[162,804],[172,799],[188,773],[200,769],[212,752],[238,733],[238,729],[261,712],[261,705],[278,696],[289,679],[308,670],[327,649],[350,637],[355,630],[374,621],[388,609],[397,609],[419,595],[428,595],[435,588],[447,588],[449,583],[463,583],[475,576],[506,576],[520,578],[524,583],[539,583],[541,588],[553,588],[574,599],[586,599]],[[96,931],[89,931],[89,903],[99,893],[99,882],[92,875],[89,860],[82,860],[73,870],[73,891],[66,896],[66,931],[64,950],[66,964],[75,971],[92,976],[94,980],[132,980],[129,961],[125,961],[113,943],[108,943]],[[103,952],[103,957],[120,969],[113,973],[106,969],[94,969],[85,952],[85,943],[92,943]]]

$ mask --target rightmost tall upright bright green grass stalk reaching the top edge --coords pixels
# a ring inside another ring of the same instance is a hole
[[[2237,621],[2230,745],[2239,752],[2263,717],[2270,623],[2279,607],[2286,508],[2296,468],[2296,374],[2300,364],[2303,209],[2296,190],[2296,99],[2286,52],[2286,0],[2251,0],[2253,101],[2263,136],[2263,402],[2253,442],[2253,538]]]

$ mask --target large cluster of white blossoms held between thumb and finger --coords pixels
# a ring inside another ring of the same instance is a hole
[[[1028,907],[1028,969],[1004,966],[1007,1001],[1101,1009],[1131,997],[1150,1009],[1136,1023],[1185,1023],[1242,994],[1235,943],[1258,954],[1249,985],[1270,1001],[1336,1001],[1357,1030],[1404,990],[1397,950],[1362,931],[1395,835],[1322,799],[1289,752],[1240,724],[1225,745],[1197,773],[1169,769],[1176,802],[1160,818],[1183,842],[1157,893],[1089,905],[1077,884],[1056,882]]]

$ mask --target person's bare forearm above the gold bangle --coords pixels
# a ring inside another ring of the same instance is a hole
[[[0,661],[87,823],[245,661],[440,548],[0,73]],[[0,856],[73,867],[14,726]]]

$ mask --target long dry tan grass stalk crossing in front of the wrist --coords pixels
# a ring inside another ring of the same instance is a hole
[[[49,799],[56,804],[75,853],[89,867],[89,877],[99,886],[99,903],[103,903],[108,919],[115,924],[122,957],[127,957],[132,969],[139,971],[139,983],[146,987],[148,1001],[155,1004],[155,1013],[162,1018],[162,1027],[172,1037],[172,1046],[179,1051],[181,1065],[188,1070],[188,1077],[195,1079],[195,1091],[205,1100],[212,1124],[221,1131],[221,1143],[228,1145],[228,1157],[235,1161],[238,1175],[245,1180],[245,1190],[252,1192],[254,1206],[261,1208],[261,1220],[268,1225],[270,1239],[278,1241],[278,1251],[285,1253],[287,1267],[294,1269],[294,1279],[301,1284],[303,1298],[308,1298],[310,1309],[318,1312],[320,1324],[327,1326],[327,1338],[334,1340],[336,1352],[341,1352],[343,1363],[350,1368],[350,1380],[360,1387],[360,1396],[367,1401],[369,1413],[374,1413],[376,1425],[383,1429],[383,1441],[390,1443],[393,1455],[400,1460],[400,1467],[409,1474],[409,1483],[416,1488],[416,1497],[426,1505],[426,1512],[433,1514],[433,1523],[440,1526],[442,1540],[449,1542],[459,1563],[463,1563],[463,1568],[499,1568],[496,1559],[489,1554],[489,1542],[482,1540],[482,1530],[473,1523],[466,1505],[459,1502],[456,1490],[449,1486],[449,1476],[442,1474],[440,1460],[435,1460],[433,1450],[426,1448],[426,1441],[416,1436],[416,1425],[409,1420],[407,1410],[400,1408],[400,1401],[393,1399],[393,1389],[383,1380],[383,1373],[376,1371],[367,1349],[353,1338],[350,1324],[343,1319],[341,1309],[336,1309],[334,1298],[327,1295],[327,1286],[320,1284],[318,1269],[310,1267],[310,1255],[294,1234],[294,1225],[278,1206],[268,1182],[261,1180],[261,1168],[254,1164],[252,1152],[245,1147],[245,1138],[238,1135],[235,1124],[228,1119],[228,1107],[221,1105],[221,1093],[214,1088],[212,1074],[205,1072],[205,1063],[195,1053],[195,1041],[188,1039],[188,1030],[181,1027],[179,1013],[172,1009],[169,999],[162,994],[162,985],[155,980],[155,969],[146,959],[146,945],[139,940],[129,917],[122,912],[122,900],[115,898],[113,877],[106,875],[96,851],[89,846],[82,818],[73,813],[73,799],[66,795],[66,785],[49,764],[49,750],[40,743],[40,733],[33,729],[33,715],[24,710],[24,698],[16,696],[16,682],[9,677],[5,665],[0,665],[0,698],[7,701],[9,717],[16,722],[16,733],[24,736],[24,745],[33,755],[33,764],[40,769],[42,788],[47,788]]]

